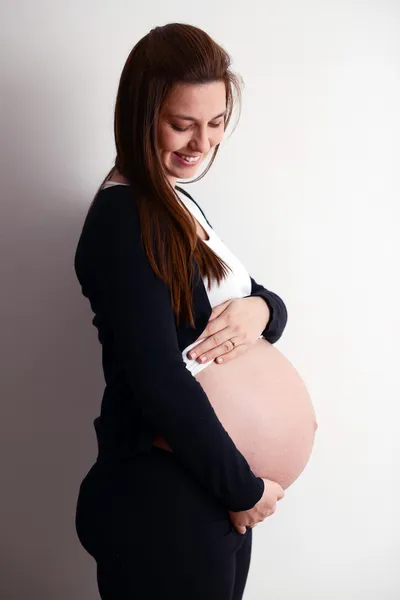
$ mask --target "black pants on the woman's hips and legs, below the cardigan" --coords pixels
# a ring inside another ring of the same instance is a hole
[[[81,483],[76,531],[97,563],[102,600],[241,600],[252,529],[175,455],[155,446],[114,467],[95,463]]]

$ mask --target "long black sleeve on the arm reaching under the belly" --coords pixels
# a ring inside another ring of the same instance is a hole
[[[85,223],[84,294],[112,332],[132,397],[145,418],[226,508],[250,509],[262,497],[264,482],[251,471],[186,368],[170,291],[145,254],[134,197],[127,188],[104,192]]]

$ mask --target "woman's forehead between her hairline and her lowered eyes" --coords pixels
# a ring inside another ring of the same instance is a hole
[[[163,107],[164,113],[181,114],[195,119],[212,119],[226,108],[223,81],[202,84],[177,84]]]

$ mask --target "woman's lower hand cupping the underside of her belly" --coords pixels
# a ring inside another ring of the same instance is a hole
[[[264,481],[264,494],[253,508],[241,510],[240,512],[228,511],[232,523],[241,534],[246,533],[246,527],[254,527],[257,523],[261,523],[264,519],[273,515],[278,500],[282,500],[285,495],[279,483],[263,477],[262,480]]]

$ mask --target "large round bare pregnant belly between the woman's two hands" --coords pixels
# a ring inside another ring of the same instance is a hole
[[[196,379],[252,471],[283,488],[291,485],[309,460],[317,425],[289,360],[260,338],[234,360],[211,363]],[[171,450],[162,438],[154,443]]]

